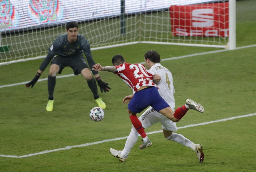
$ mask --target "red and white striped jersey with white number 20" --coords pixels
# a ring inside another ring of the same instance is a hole
[[[153,83],[154,72],[149,71],[142,64],[124,63],[117,68],[117,75],[132,89],[133,94],[142,86],[157,87]]]

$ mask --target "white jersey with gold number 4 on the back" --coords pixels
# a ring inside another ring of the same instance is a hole
[[[163,99],[170,105],[172,109],[175,108],[175,99],[174,99],[174,85],[172,79],[172,73],[166,68],[163,67],[160,63],[153,65],[149,71],[156,73],[161,76],[160,83],[157,85],[159,88],[159,94]]]

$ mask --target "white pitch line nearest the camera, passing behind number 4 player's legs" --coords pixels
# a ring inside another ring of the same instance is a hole
[[[183,126],[183,127],[178,127],[178,129],[188,128],[188,127],[195,127],[195,126],[200,126],[200,125],[206,125],[206,124],[211,124],[211,123],[215,123],[215,122],[228,121],[228,120],[233,120],[233,119],[237,119],[237,118],[245,118],[245,117],[250,117],[250,116],[253,116],[253,115],[256,115],[256,113],[247,114],[247,115],[241,115],[241,116],[237,116],[237,117],[230,117],[230,118],[225,118],[225,119],[219,119],[219,120],[216,120],[216,121],[203,122],[203,123],[198,123],[198,124],[191,124],[191,125],[187,125],[187,126]],[[162,130],[152,131],[152,132],[148,132],[147,135],[155,134],[155,133],[159,133],[159,132],[163,132],[163,131]],[[78,148],[78,147],[85,147],[85,146],[90,146],[90,145],[95,145],[95,144],[100,144],[100,143],[105,143],[105,142],[110,142],[110,141],[115,141],[115,140],[127,139],[127,137],[128,136],[126,136],[126,137],[118,137],[118,138],[115,138],[115,139],[101,140],[101,141],[96,141],[96,142],[93,142],[93,143],[85,143],[85,144],[81,144],[81,145],[66,146],[65,148],[59,148],[59,149],[53,149],[53,150],[45,150],[45,151],[42,151],[42,152],[30,153],[30,154],[21,155],[21,156],[0,154],[0,157],[24,158],[24,157],[30,157],[30,156],[35,156],[35,155],[40,155],[40,154],[45,154],[45,153],[50,153],[50,152],[57,152],[59,150],[67,150],[67,149]]]

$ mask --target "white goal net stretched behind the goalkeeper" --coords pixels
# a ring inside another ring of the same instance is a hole
[[[235,0],[230,0],[235,1]],[[68,21],[92,50],[137,43],[225,48],[229,2],[0,0],[0,65],[44,58]],[[235,18],[235,16],[233,16]]]

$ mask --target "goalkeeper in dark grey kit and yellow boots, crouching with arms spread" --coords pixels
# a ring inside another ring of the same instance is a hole
[[[58,73],[61,74],[61,71],[66,66],[71,67],[75,75],[81,74],[87,80],[88,86],[93,93],[97,105],[102,109],[106,108],[105,103],[99,97],[96,81],[101,92],[108,92],[111,88],[108,87],[108,83],[105,83],[100,79],[99,72],[92,71],[94,77],[96,78],[95,81],[91,71],[88,68],[88,65],[86,64],[85,58],[83,57],[83,51],[89,67],[92,68],[92,66],[95,65],[95,62],[92,58],[88,40],[86,40],[84,36],[78,34],[78,24],[76,22],[72,21],[67,23],[66,34],[61,34],[57,37],[57,39],[50,46],[49,53],[39,67],[36,76],[26,84],[26,87],[31,86],[31,88],[33,88],[42,72],[52,60],[48,75],[49,100],[46,106],[47,111],[53,110],[53,91],[56,83],[56,75]]]

